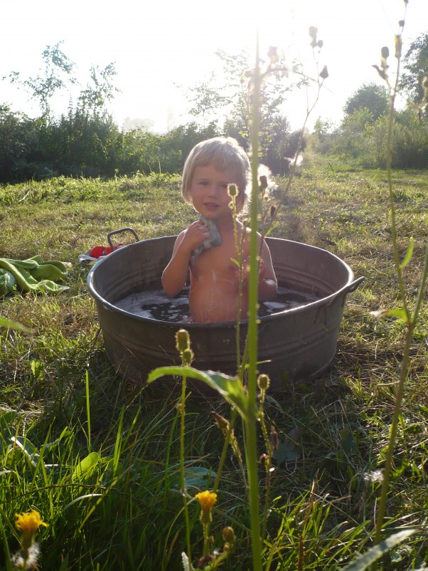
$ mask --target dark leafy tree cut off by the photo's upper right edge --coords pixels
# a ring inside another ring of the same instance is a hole
[[[424,97],[422,79],[428,74],[428,33],[412,41],[405,57],[403,58],[405,71],[402,73],[400,87],[407,95],[419,103]]]

